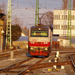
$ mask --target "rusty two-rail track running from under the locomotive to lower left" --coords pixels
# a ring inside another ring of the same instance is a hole
[[[6,72],[8,72],[8,73],[16,73],[15,71],[10,71],[11,69],[14,69],[14,68],[22,68],[22,67],[28,67],[26,70],[28,70],[30,67],[32,67],[32,66],[34,66],[34,65],[36,65],[37,63],[39,64],[39,63],[41,63],[42,61],[44,61],[46,58],[42,58],[41,60],[39,60],[39,61],[37,61],[36,63],[34,63],[34,64],[32,64],[32,65],[22,65],[23,63],[26,63],[26,62],[28,62],[28,61],[30,61],[30,60],[32,60],[32,59],[34,59],[34,57],[32,57],[32,58],[29,58],[29,59],[27,59],[27,60],[24,60],[24,61],[21,61],[21,62],[19,62],[19,63],[16,63],[16,64],[13,64],[13,65],[11,65],[11,66],[8,66],[8,67],[6,67],[6,68],[3,68],[3,69],[0,69],[0,73],[6,73]],[[24,73],[26,70],[23,70],[23,71],[20,71],[20,73]],[[18,71],[17,71],[18,72]],[[19,74],[20,74],[19,73]]]

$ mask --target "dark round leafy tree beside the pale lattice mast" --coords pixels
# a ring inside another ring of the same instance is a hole
[[[16,41],[20,38],[21,36],[21,27],[19,25],[12,25],[11,26],[11,36],[12,36],[12,41]]]

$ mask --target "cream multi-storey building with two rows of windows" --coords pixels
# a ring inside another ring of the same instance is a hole
[[[67,36],[68,10],[54,10],[53,35]],[[75,36],[75,10],[71,10],[71,36]]]

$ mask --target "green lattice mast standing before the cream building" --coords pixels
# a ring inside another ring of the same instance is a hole
[[[71,0],[68,0],[68,27],[67,27],[67,38],[70,38],[71,46]]]

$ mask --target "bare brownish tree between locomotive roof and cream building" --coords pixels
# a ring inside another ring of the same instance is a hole
[[[53,30],[53,12],[45,12],[41,17],[41,24],[47,25]]]

